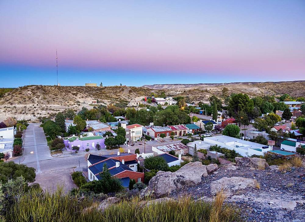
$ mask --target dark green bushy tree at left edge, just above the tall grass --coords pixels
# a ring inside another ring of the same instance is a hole
[[[26,182],[34,183],[35,181],[35,168],[27,167],[23,164],[16,164],[13,161],[0,163],[0,181],[6,183],[9,179],[16,179],[23,176]]]

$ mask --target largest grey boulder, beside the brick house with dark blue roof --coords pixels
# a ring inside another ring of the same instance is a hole
[[[206,166],[201,162],[191,162],[176,172],[158,171],[150,179],[148,187],[141,190],[141,197],[152,196],[160,198],[169,195],[183,186],[194,186],[208,175]]]

